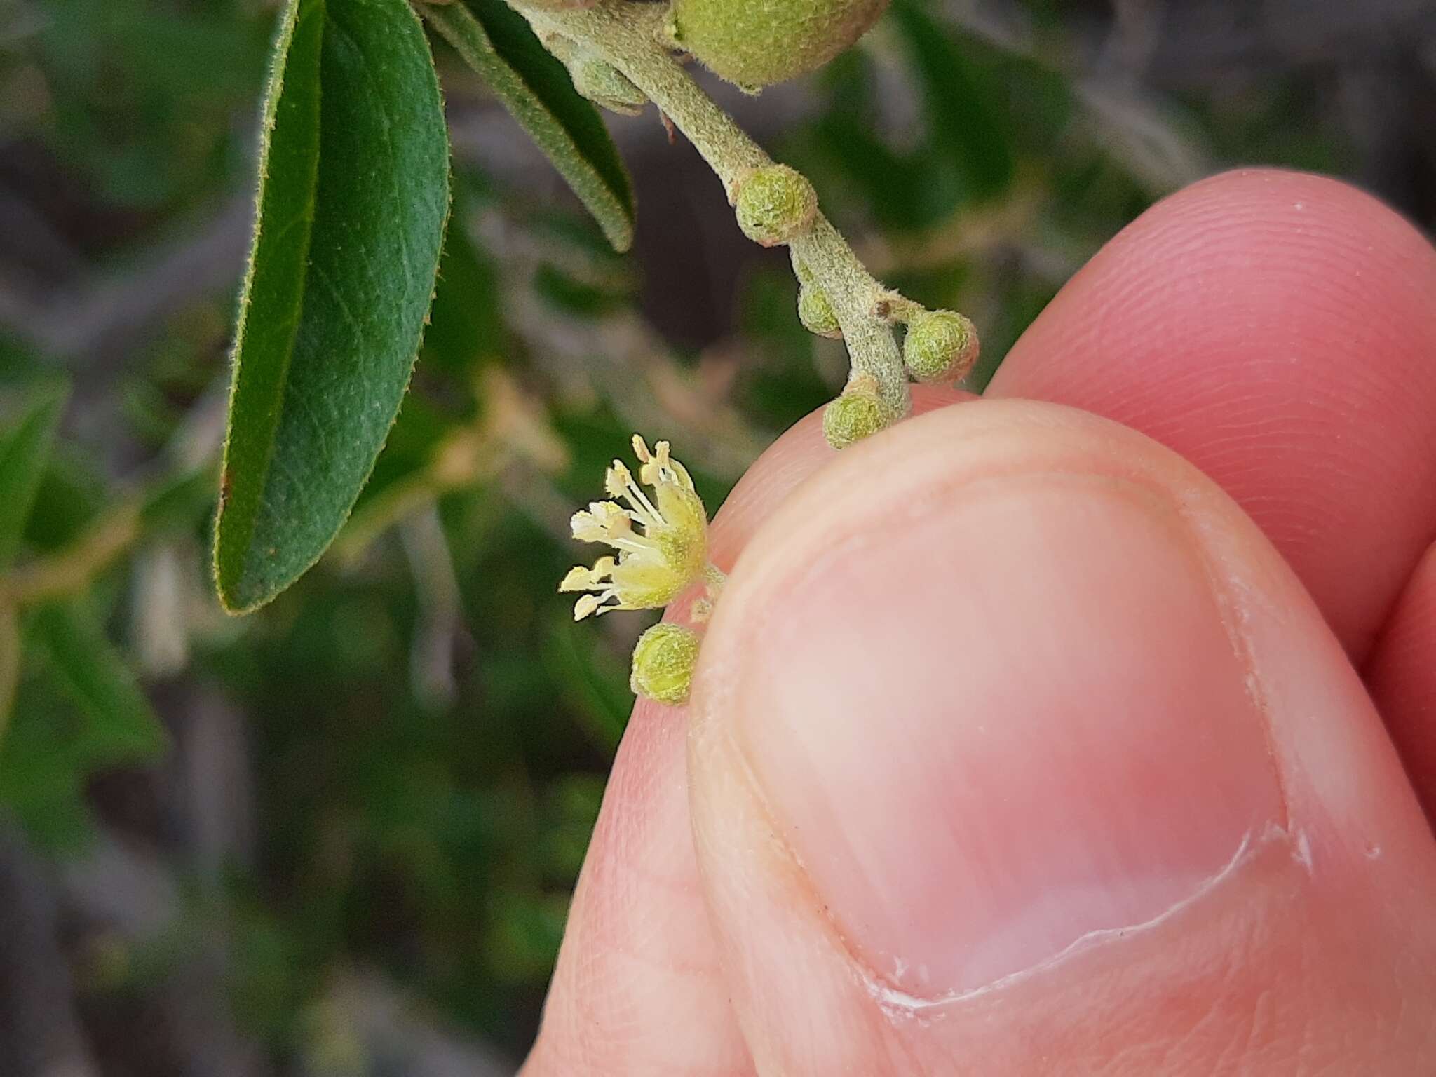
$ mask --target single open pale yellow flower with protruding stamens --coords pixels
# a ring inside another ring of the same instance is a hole
[[[633,435],[639,481],[615,460],[603,487],[612,501],[595,501],[573,514],[573,537],[606,543],[616,557],[600,557],[563,577],[561,592],[583,592],[573,619],[612,609],[666,606],[702,579],[708,564],[708,513],[688,470],[669,455],[666,441],[651,452]],[[653,497],[642,485],[653,488]]]

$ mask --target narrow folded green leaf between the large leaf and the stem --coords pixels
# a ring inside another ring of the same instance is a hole
[[[589,208],[615,250],[633,246],[633,185],[593,103],[504,0],[424,9]]]

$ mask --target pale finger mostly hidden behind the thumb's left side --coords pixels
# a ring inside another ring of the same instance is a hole
[[[965,399],[971,393],[918,386],[913,411]],[[773,510],[836,455],[821,412],[778,438],[714,520],[714,561],[732,567]],[[684,619],[684,605],[669,619]],[[752,1073],[698,885],[685,737],[685,708],[633,708],[524,1077]]]

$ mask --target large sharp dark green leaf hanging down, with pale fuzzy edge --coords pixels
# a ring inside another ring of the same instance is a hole
[[[448,131],[406,0],[290,0],[220,480],[230,612],[302,576],[353,507],[409,383],[447,214]]]

